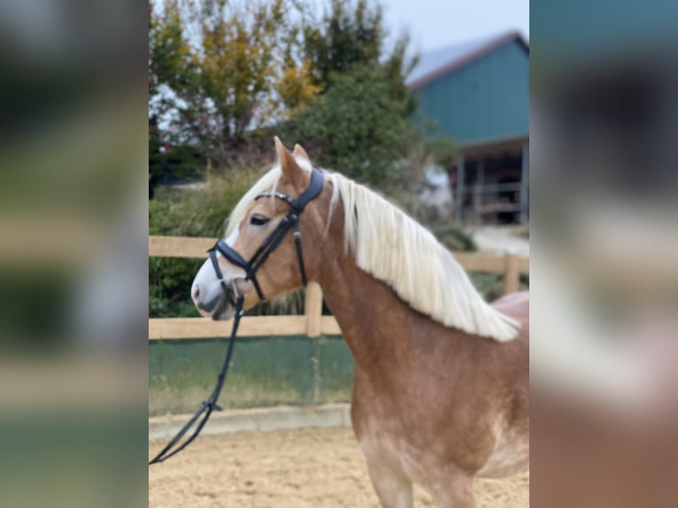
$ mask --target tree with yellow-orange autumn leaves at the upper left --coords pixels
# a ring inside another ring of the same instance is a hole
[[[320,89],[295,58],[294,12],[292,0],[166,0],[150,26],[150,65],[175,139],[219,165],[253,129],[309,103]]]

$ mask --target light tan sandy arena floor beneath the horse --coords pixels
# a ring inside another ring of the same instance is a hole
[[[149,455],[162,442],[149,443]],[[529,505],[529,476],[477,481],[479,508]],[[415,505],[435,506],[422,489]],[[351,428],[201,436],[149,469],[150,508],[379,508]]]

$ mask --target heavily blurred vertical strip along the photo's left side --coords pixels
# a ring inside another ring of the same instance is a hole
[[[5,506],[145,498],[146,22],[0,4]]]

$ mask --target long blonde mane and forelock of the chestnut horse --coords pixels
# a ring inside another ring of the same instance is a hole
[[[305,171],[311,165],[297,163]],[[413,309],[447,327],[504,342],[518,335],[519,324],[487,304],[468,275],[428,229],[374,191],[339,173],[324,172],[333,185],[329,223],[342,200],[344,244],[357,266],[384,281]],[[227,235],[240,223],[254,198],[277,186],[279,165],[243,196],[228,219]]]

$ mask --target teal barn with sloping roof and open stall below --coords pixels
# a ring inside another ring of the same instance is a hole
[[[460,224],[528,221],[529,45],[518,32],[420,55],[407,85],[432,136],[457,143],[451,168]]]

